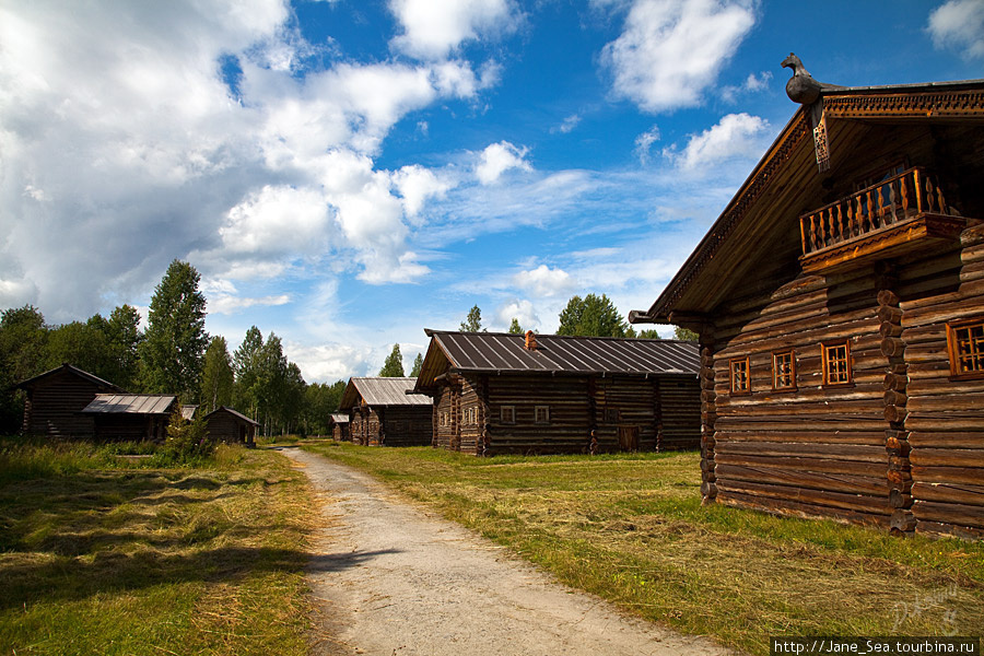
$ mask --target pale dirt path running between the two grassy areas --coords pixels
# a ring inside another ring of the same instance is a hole
[[[628,618],[505,548],[326,458],[284,448],[330,519],[315,548],[324,654],[635,656],[728,654]]]

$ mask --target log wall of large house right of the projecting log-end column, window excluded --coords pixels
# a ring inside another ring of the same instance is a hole
[[[984,318],[984,226],[964,231],[961,251],[900,271],[907,362],[900,446],[911,481],[900,506],[915,530],[984,537],[984,380],[951,380],[946,321]],[[904,444],[907,442],[907,445]]]

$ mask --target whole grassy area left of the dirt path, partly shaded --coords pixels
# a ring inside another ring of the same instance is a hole
[[[306,654],[303,475],[115,450],[0,441],[0,654]]]

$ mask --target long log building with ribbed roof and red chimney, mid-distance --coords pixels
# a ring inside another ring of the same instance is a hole
[[[434,446],[476,455],[696,448],[692,342],[427,330]]]

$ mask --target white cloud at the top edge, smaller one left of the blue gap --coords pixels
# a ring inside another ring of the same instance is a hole
[[[390,0],[403,28],[390,44],[419,59],[442,59],[461,43],[512,32],[519,22],[511,0]]]

